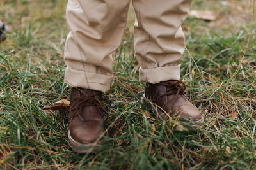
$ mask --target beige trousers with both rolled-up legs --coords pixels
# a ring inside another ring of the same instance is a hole
[[[106,92],[111,88],[111,53],[122,43],[131,0],[69,0],[65,82]],[[191,0],[133,0],[140,81],[180,80],[185,20]]]

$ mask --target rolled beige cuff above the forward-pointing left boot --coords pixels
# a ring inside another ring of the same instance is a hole
[[[86,73],[67,67],[64,80],[71,87],[82,87],[100,92],[108,92],[111,89],[113,78],[113,76],[105,74]]]

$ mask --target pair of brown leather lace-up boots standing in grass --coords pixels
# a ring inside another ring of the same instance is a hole
[[[147,83],[143,103],[163,120],[178,115],[195,123],[204,122],[200,111],[184,94],[185,89],[182,81]],[[102,92],[72,87],[68,143],[74,152],[86,153],[92,145],[102,142],[99,137],[105,127],[101,103]]]

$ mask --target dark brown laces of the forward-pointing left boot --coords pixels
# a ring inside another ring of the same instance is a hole
[[[86,106],[97,106],[99,110],[104,111],[104,106],[100,103],[99,99],[93,97],[94,94],[92,95],[87,95],[86,96],[81,96],[77,97],[74,101],[74,103],[71,104],[69,111],[71,114],[70,121],[76,116],[81,118],[82,121],[84,121],[83,117],[79,113],[82,113],[82,108]]]

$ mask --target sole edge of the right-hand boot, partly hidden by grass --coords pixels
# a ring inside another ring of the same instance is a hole
[[[143,104],[145,104],[145,106],[147,108],[149,108],[150,110],[153,111],[153,113],[156,115],[156,117],[159,117],[161,120],[166,120],[166,118],[168,118],[167,115],[164,115],[164,111],[161,110],[159,107],[157,107],[156,103],[152,103],[151,101],[149,101],[146,97],[145,94],[143,94],[143,97],[141,99],[141,102]],[[202,124],[204,123],[204,117],[201,115],[201,118],[198,120],[193,120],[193,122],[195,122],[195,124]]]

